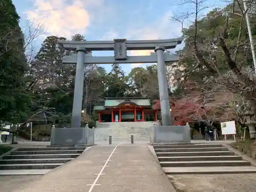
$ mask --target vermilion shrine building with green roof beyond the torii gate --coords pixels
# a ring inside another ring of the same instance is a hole
[[[96,104],[93,110],[99,122],[157,121],[158,112],[145,97],[105,98],[104,104]]]

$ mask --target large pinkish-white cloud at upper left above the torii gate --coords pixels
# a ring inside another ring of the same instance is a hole
[[[31,10],[25,13],[35,24],[44,25],[47,35],[70,37],[75,33],[85,34],[92,16],[88,8],[100,8],[100,0],[36,0]]]

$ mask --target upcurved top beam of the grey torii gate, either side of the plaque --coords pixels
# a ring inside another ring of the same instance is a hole
[[[159,40],[127,40],[127,50],[154,50],[156,46],[164,46],[165,49],[174,49],[181,44],[183,38],[159,39]],[[114,41],[74,41],[62,40],[58,41],[66,50],[75,48],[84,48],[87,51],[113,51]]]

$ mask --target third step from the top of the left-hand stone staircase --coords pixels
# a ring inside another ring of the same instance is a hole
[[[6,155],[3,159],[54,159],[76,158],[80,154],[34,154],[34,155]]]

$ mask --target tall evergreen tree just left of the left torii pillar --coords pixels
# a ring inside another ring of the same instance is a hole
[[[64,37],[48,36],[32,63],[30,74],[34,83],[32,111],[44,107],[69,114],[72,109],[75,65],[62,63],[66,51],[58,44]]]

